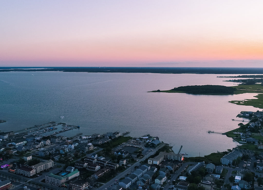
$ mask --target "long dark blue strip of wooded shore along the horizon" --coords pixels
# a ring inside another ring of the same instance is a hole
[[[262,74],[263,68],[224,68],[224,67],[0,67],[7,71],[62,71],[93,73],[193,73],[193,74]],[[252,76],[252,75],[251,75]]]

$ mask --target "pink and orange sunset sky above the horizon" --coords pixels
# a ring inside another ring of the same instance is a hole
[[[0,66],[262,67],[263,1],[0,1]]]

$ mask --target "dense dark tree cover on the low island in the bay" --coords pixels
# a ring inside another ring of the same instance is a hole
[[[183,91],[189,94],[234,94],[236,88],[221,85],[194,85],[194,86],[180,86],[173,91]]]

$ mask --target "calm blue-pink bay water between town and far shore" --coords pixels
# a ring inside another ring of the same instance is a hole
[[[225,85],[213,74],[1,72],[1,131],[19,131],[49,121],[79,125],[62,133],[73,136],[131,131],[133,137],[150,133],[188,156],[226,151],[237,145],[231,138],[210,134],[237,128],[232,121],[251,106],[228,101],[256,94],[191,95],[147,93],[186,85]],[[63,116],[62,116],[63,115]]]

